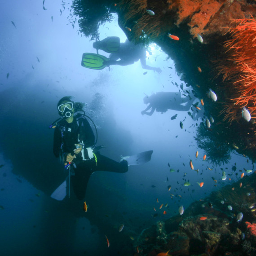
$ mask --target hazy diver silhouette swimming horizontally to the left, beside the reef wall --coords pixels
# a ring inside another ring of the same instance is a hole
[[[168,109],[177,111],[188,111],[194,98],[181,97],[181,92],[159,92],[146,96],[143,99],[144,104],[149,104],[145,110],[141,111],[141,115],[152,115],[154,110],[157,112],[165,113]],[[187,103],[186,105],[181,105]],[[151,109],[151,110],[150,110]],[[150,112],[147,112],[150,110]]]

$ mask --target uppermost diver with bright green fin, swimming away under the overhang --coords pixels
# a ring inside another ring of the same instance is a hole
[[[128,39],[124,43],[120,43],[120,38],[117,36],[110,36],[102,41],[93,43],[93,48],[101,49],[106,53],[110,53],[109,58],[95,53],[84,53],[81,65],[91,69],[103,69],[106,66],[131,65],[138,60],[141,61],[143,69],[153,70],[161,73],[159,67],[152,67],[146,64],[146,49],[143,44],[134,44]]]

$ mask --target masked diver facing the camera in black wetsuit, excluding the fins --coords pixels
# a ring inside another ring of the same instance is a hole
[[[99,152],[93,152],[95,137],[87,119],[79,113],[83,104],[63,97],[57,104],[59,115],[65,116],[54,130],[53,153],[62,163],[73,164],[75,175],[71,176],[73,190],[83,200],[87,183],[95,171],[127,172],[128,163],[118,163]],[[81,112],[81,111],[80,111]]]

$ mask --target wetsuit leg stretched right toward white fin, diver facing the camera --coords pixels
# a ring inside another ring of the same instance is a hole
[[[106,156],[97,154],[97,165],[94,166],[93,171],[124,173],[128,171],[128,163],[125,160],[116,162]]]

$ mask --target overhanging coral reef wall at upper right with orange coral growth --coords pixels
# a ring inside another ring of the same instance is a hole
[[[80,17],[80,29],[86,36],[97,35],[88,33],[88,22],[93,22],[91,29],[97,29],[111,18],[111,13],[117,13],[119,26],[128,40],[158,44],[175,62],[181,79],[193,87],[194,95],[205,99],[205,115],[215,116],[214,132],[221,135],[219,141],[216,136],[216,145],[225,143],[230,150],[256,160],[254,0],[98,0],[90,3],[74,0],[73,3],[75,14]],[[102,15],[93,12],[93,6],[99,4]],[[94,18],[88,18],[88,13],[94,13]],[[170,39],[168,33],[178,36],[179,40]],[[198,35],[203,37],[203,42],[198,40]],[[239,44],[243,48],[239,48]],[[206,97],[209,88],[218,95],[214,104]],[[243,106],[252,114],[250,122],[242,118]]]

